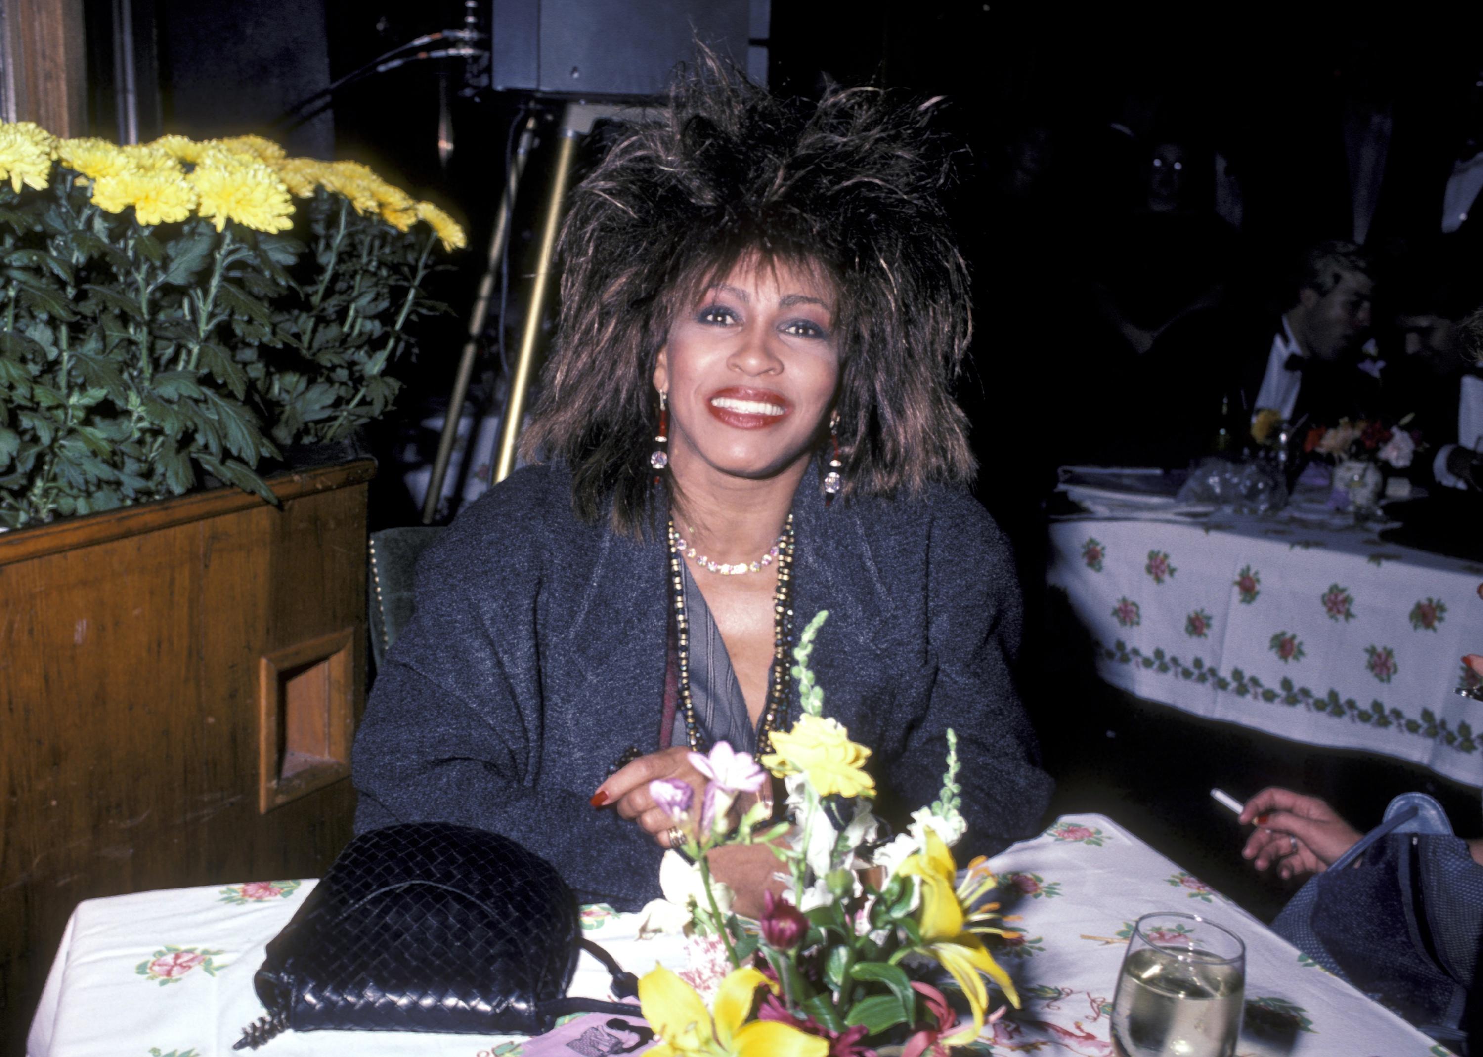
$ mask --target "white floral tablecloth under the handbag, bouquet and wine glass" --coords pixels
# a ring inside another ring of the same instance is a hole
[[[1247,1030],[1238,1057],[1447,1054],[1102,815],[1063,817],[992,866],[1013,903],[1008,912],[1020,916],[1022,931],[997,956],[1025,1007],[986,1027],[967,1053],[1111,1057],[1111,1001],[1133,921],[1191,910],[1246,941]],[[262,1014],[252,974],[264,944],[313,884],[260,881],[79,904],[31,1026],[30,1057],[230,1057],[242,1026]],[[687,970],[682,941],[638,940],[635,915],[587,907],[584,928],[636,972],[655,961]],[[607,980],[583,955],[571,992],[605,998]],[[265,1053],[519,1057],[532,1048],[509,1036],[289,1032]]]

